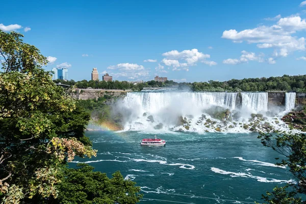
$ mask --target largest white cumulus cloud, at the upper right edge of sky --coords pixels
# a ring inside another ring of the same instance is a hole
[[[222,38],[233,42],[257,43],[259,48],[274,48],[278,56],[287,57],[290,52],[305,50],[305,38],[293,36],[297,31],[306,30],[306,21],[300,16],[280,18],[276,24],[261,25],[243,31],[226,30]]]

